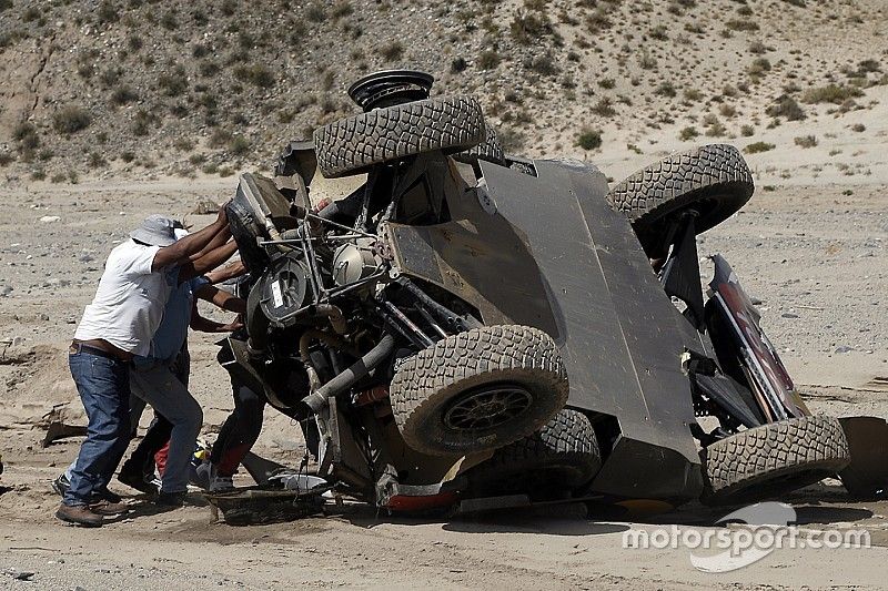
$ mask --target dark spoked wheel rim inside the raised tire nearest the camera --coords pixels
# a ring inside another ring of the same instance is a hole
[[[533,396],[517,385],[487,386],[457,398],[444,414],[444,425],[460,431],[498,427],[529,408]]]

